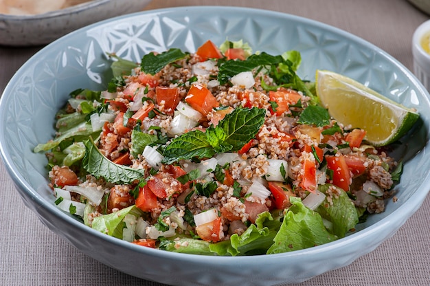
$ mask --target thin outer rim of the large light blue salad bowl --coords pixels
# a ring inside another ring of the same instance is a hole
[[[106,1],[106,0],[102,0],[102,1]],[[53,45],[56,45],[56,43],[58,43],[58,41],[62,41],[62,39],[67,38],[67,37],[71,37],[76,33],[82,32],[83,30],[89,30],[91,28],[95,28],[95,26],[103,25],[103,24],[108,23],[110,21],[121,20],[121,19],[124,19],[127,17],[133,17],[133,16],[138,15],[138,14],[139,15],[141,15],[141,14],[158,14],[159,15],[159,14],[163,14],[166,12],[171,12],[172,10],[174,10],[175,12],[178,12],[178,11],[180,12],[182,10],[199,10],[199,9],[200,10],[201,9],[222,10],[222,9],[226,9],[226,8],[224,8],[222,6],[210,6],[210,5],[208,5],[208,6],[184,6],[184,7],[176,7],[176,8],[163,8],[163,9],[157,9],[157,10],[147,10],[144,12],[136,12],[136,13],[132,13],[132,14],[126,14],[126,15],[122,15],[120,17],[114,17],[112,19],[107,19],[104,21],[100,21],[98,23],[93,23],[91,25],[87,25],[84,28],[80,28],[80,29],[78,29],[74,32],[71,32],[71,33],[61,37],[60,39],[50,43],[49,45],[44,47],[42,50],[40,50],[39,52],[34,54],[34,56],[32,56],[26,63],[24,63],[24,65],[19,69],[19,71],[16,72],[16,74],[14,74],[14,76],[10,80],[10,83],[12,83],[12,81],[14,81],[16,78],[18,78],[19,72],[21,69],[25,69],[25,67],[27,65],[30,65],[33,61],[36,61],[36,58],[40,54],[45,53],[45,51],[49,50],[50,47],[52,47]],[[296,16],[293,14],[275,12],[275,11],[271,11],[271,10],[261,10],[261,9],[256,9],[256,8],[228,7],[228,9],[229,10],[236,10],[237,12],[240,12],[240,13],[258,12],[258,13],[264,14],[264,16],[268,16],[268,17],[270,17],[270,16],[288,17],[289,19],[295,19],[297,21],[301,21],[302,23],[319,25],[319,26],[321,26],[321,28],[330,30],[330,31],[335,32],[337,34],[341,34],[342,36],[345,36],[346,38],[352,39],[355,42],[363,43],[367,47],[371,47],[374,50],[374,52],[376,52],[378,54],[382,54],[389,61],[392,61],[392,63],[394,63],[394,65],[396,65],[396,67],[398,67],[398,69],[401,72],[403,72],[405,75],[407,75],[408,78],[414,83],[414,85],[418,89],[420,89],[420,91],[422,91],[422,94],[426,95],[427,100],[429,100],[429,98],[430,98],[430,95],[428,94],[425,87],[422,86],[422,84],[416,79],[414,74],[412,74],[409,71],[409,69],[407,69],[402,63],[397,61],[396,58],[394,58],[393,56],[390,56],[389,54],[387,54],[387,52],[384,52],[383,50],[381,50],[381,48],[376,47],[376,45],[373,45],[372,43],[369,43],[369,42],[365,41],[364,39],[361,39],[360,37],[355,36],[354,34],[350,34],[349,32],[346,32],[346,31],[341,30],[339,28],[336,28],[334,26],[328,25],[326,23],[321,23],[321,22],[315,21],[313,19],[307,19],[304,17],[299,17],[299,16]],[[8,83],[8,85],[6,85],[6,87],[3,91],[3,96],[1,96],[1,98],[0,98],[0,111],[2,109],[5,109],[5,107],[3,107],[4,104],[2,104],[2,103],[5,102],[5,94],[7,94],[9,89],[11,88],[10,83]],[[4,140],[3,139],[3,133],[0,132],[0,143],[3,140]],[[426,148],[426,146],[424,148]],[[70,223],[71,225],[76,226],[77,228],[80,228],[81,230],[84,230],[84,232],[87,232],[90,235],[98,236],[98,238],[100,238],[102,240],[109,241],[109,242],[114,243],[120,247],[128,248],[128,249],[131,249],[135,252],[148,254],[150,256],[159,256],[159,257],[163,257],[166,259],[172,259],[174,261],[188,261],[189,259],[192,259],[192,260],[197,261],[197,262],[201,262],[201,263],[206,262],[207,263],[208,259],[209,259],[210,261],[212,261],[214,263],[231,263],[232,261],[235,261],[235,262],[240,262],[240,263],[243,263],[244,265],[247,265],[248,263],[251,263],[251,261],[252,261],[252,259],[249,259],[249,257],[254,257],[254,256],[233,256],[233,257],[232,256],[204,256],[204,255],[197,255],[197,254],[181,254],[181,253],[175,253],[175,252],[167,252],[167,251],[155,250],[155,249],[151,249],[151,248],[142,248],[139,245],[133,245],[133,243],[128,243],[126,241],[122,241],[122,240],[116,239],[112,236],[108,236],[106,234],[103,234],[102,232],[98,232],[96,230],[93,230],[92,228],[89,228],[87,225],[80,223],[76,219],[69,217],[67,214],[65,214],[64,212],[62,212],[58,208],[56,208],[56,206],[54,206],[51,202],[45,201],[45,199],[43,199],[43,197],[41,197],[41,195],[38,195],[38,193],[35,190],[32,190],[32,186],[30,186],[30,184],[27,183],[27,181],[25,181],[25,179],[19,173],[19,171],[16,170],[16,166],[14,165],[13,159],[10,157],[10,155],[8,155],[6,153],[6,150],[2,144],[0,144],[0,155],[1,155],[1,158],[3,159],[3,162],[5,164],[6,169],[8,170],[8,173],[10,174],[10,177],[12,177],[12,180],[16,184],[16,187],[17,188],[19,187],[19,188],[21,188],[21,190],[23,190],[23,193],[24,193],[23,195],[26,195],[27,197],[29,197],[33,201],[36,201],[36,203],[41,208],[44,208],[45,210],[49,211],[50,213],[52,213],[56,216],[59,216],[61,219],[65,219],[67,221],[67,223]],[[410,217],[410,215],[413,214],[414,212],[416,212],[416,210],[418,210],[418,208],[421,206],[421,204],[424,201],[425,197],[427,196],[427,193],[429,192],[429,190],[430,190],[430,175],[427,175],[427,177],[423,178],[422,184],[420,184],[419,191],[417,190],[414,193],[414,195],[411,195],[411,197],[409,197],[407,199],[407,201],[405,201],[403,203],[403,206],[401,209],[397,208],[396,210],[394,210],[392,212],[392,214],[389,214],[387,217],[383,217],[381,220],[375,222],[373,225],[370,225],[367,228],[364,228],[363,230],[360,230],[359,232],[355,232],[353,234],[350,234],[349,236],[346,236],[343,239],[339,239],[339,240],[333,241],[331,243],[326,243],[324,245],[318,245],[318,246],[315,246],[313,248],[307,248],[304,250],[296,250],[294,252],[285,252],[285,253],[280,253],[280,254],[266,254],[263,256],[260,255],[258,257],[259,258],[262,258],[262,257],[269,258],[270,257],[270,258],[275,258],[278,260],[279,259],[295,259],[295,258],[299,259],[299,258],[302,258],[303,256],[314,256],[314,255],[321,256],[323,254],[328,254],[330,252],[333,252],[333,251],[337,250],[338,248],[346,248],[348,245],[352,245],[352,244],[356,243],[357,241],[361,241],[361,239],[364,239],[365,237],[370,236],[374,232],[378,232],[381,228],[382,229],[391,228],[392,223],[390,223],[390,221],[392,221],[392,220],[403,221],[403,223],[405,223],[405,221]],[[404,217],[406,217],[406,219]],[[400,225],[403,225],[403,223],[400,223]],[[395,231],[393,231],[391,235],[393,235]],[[375,245],[375,248],[378,245],[379,245],[379,243],[377,245]],[[370,251],[372,251],[372,250],[370,250]],[[365,253],[363,253],[363,254],[365,254]],[[361,254],[359,256],[361,256]],[[350,261],[350,263],[351,262],[352,261]]]

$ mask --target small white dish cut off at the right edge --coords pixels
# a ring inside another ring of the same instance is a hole
[[[430,91],[430,54],[422,47],[422,41],[426,36],[430,37],[430,20],[419,25],[412,37],[414,74],[422,85]]]

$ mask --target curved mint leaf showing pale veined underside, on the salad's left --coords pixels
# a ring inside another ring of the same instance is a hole
[[[144,177],[143,169],[134,169],[111,162],[104,157],[95,146],[93,140],[84,141],[86,148],[82,166],[88,173],[95,177],[104,177],[113,184],[131,184],[135,179]]]

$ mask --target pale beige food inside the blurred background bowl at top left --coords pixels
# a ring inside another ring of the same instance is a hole
[[[43,14],[89,1],[90,0],[0,0],[0,14]]]

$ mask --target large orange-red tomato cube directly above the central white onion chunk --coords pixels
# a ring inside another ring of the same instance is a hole
[[[202,85],[192,85],[188,91],[188,95],[185,97],[185,102],[205,116],[214,107],[219,107],[220,105],[210,90]]]

